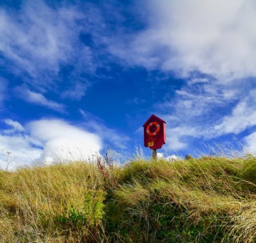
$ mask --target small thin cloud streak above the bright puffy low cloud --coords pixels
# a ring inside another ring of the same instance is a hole
[[[62,113],[65,112],[65,105],[49,100],[42,94],[30,91],[27,87],[18,86],[14,90],[21,99],[27,102],[41,106],[46,106],[47,108],[53,109],[54,111]]]

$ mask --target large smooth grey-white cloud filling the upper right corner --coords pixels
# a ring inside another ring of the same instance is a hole
[[[173,53],[162,68],[228,79],[256,75],[254,1],[151,1],[150,9],[152,35]]]

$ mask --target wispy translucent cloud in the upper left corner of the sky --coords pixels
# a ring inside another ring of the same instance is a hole
[[[44,71],[57,74],[60,63],[67,61],[72,52],[69,35],[74,30],[69,27],[77,18],[75,10],[54,11],[41,1],[24,3],[16,17],[2,9],[0,50],[20,72],[32,78]]]

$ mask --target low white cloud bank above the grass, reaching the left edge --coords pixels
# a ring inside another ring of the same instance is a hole
[[[92,159],[93,154],[102,149],[102,140],[98,135],[65,121],[42,119],[29,122],[25,130],[11,136],[1,134],[0,149],[4,154],[0,157],[0,167],[6,167],[6,152],[11,152],[9,161],[14,162],[9,168],[15,168],[34,163]]]

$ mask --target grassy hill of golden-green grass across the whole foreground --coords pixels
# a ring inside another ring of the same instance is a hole
[[[255,242],[256,158],[0,171],[1,242]]]

